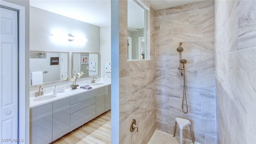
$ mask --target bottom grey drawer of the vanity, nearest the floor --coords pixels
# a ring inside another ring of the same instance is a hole
[[[91,112],[90,114],[83,116],[82,118],[79,118],[75,120],[74,122],[70,123],[70,131],[78,128],[79,126],[82,126],[86,122],[89,122],[90,120],[94,119],[96,117],[96,111]]]

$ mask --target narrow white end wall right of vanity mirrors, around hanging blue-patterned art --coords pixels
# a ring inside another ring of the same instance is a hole
[[[106,62],[111,62],[111,26],[100,27],[100,77],[111,78],[111,72],[105,70]]]

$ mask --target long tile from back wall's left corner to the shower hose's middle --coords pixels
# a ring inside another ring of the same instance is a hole
[[[156,95],[180,97],[180,84],[156,82]]]

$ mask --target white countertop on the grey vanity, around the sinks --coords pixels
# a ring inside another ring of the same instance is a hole
[[[104,83],[104,84],[100,84],[100,85],[92,84],[92,85],[90,85],[92,87],[92,89],[90,89],[90,90],[95,90],[97,88],[108,86],[108,85],[111,84],[111,80],[110,81],[109,80],[102,80],[100,82],[96,82],[95,84],[97,84],[97,83]],[[80,84],[80,85],[82,85],[82,84]],[[65,92],[60,92],[60,93],[54,94],[54,95],[56,95],[56,97],[52,98],[50,100],[34,101],[34,99],[40,98],[41,96],[31,97],[30,98],[30,108],[33,108],[33,107],[36,107],[36,106],[40,106],[42,104],[47,104],[49,102],[54,102],[56,100],[60,100],[60,99],[63,99],[63,98],[68,98],[70,96],[74,96],[76,94],[81,94],[83,92],[88,92],[90,90],[82,89],[82,88],[80,88],[80,86],[78,86],[78,88],[75,89],[75,90],[72,90],[71,87],[68,87],[67,89],[65,89]],[[53,95],[53,94],[52,93],[48,93],[48,94],[44,94],[43,96],[50,96],[50,95]]]

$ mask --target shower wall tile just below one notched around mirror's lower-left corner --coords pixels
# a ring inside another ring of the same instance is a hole
[[[132,81],[128,76],[119,78],[119,100],[132,95]]]

